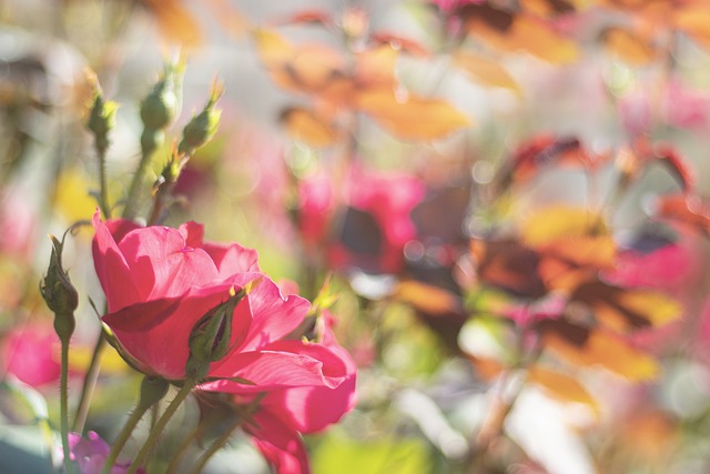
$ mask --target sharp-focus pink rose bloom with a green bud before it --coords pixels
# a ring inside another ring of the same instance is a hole
[[[284,297],[258,272],[256,252],[239,244],[203,241],[203,228],[139,228],[93,219],[94,266],[106,295],[102,317],[136,369],[168,380],[182,380],[195,323],[247,283],[260,283],[234,309],[230,353],[210,366],[207,376],[243,376],[261,390],[320,377],[314,363],[297,354],[257,352],[301,324],[308,302]],[[290,371],[292,369],[293,371]]]

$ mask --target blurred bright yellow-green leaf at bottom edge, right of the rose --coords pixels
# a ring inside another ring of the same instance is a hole
[[[427,447],[417,440],[355,441],[331,435],[313,454],[314,474],[422,474],[430,468]]]

